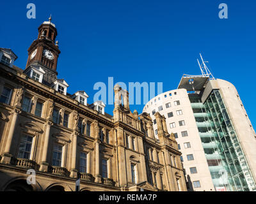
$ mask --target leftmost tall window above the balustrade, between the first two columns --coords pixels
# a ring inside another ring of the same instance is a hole
[[[20,141],[18,158],[30,159],[33,137],[24,135]]]

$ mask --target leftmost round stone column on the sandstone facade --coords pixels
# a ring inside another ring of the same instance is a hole
[[[21,110],[18,107],[15,107],[15,109],[12,112],[12,115],[13,115],[12,123],[11,123],[10,129],[9,129],[8,138],[7,138],[7,141],[6,141],[4,154],[3,154],[3,157],[1,159],[1,163],[4,163],[4,164],[10,164],[11,163],[11,159],[13,157],[13,155],[11,154],[13,136],[14,136],[15,127],[16,127],[16,124],[17,124],[18,115],[19,115],[20,112],[21,112]]]

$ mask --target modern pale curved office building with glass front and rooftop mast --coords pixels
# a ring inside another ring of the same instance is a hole
[[[201,68],[202,70],[202,68]],[[188,191],[256,191],[256,135],[236,87],[211,73],[184,75],[178,89],[143,108],[166,117],[182,152]]]

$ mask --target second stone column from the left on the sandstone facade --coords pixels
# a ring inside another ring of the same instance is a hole
[[[50,132],[51,132],[51,126],[52,121],[47,120],[46,122],[46,130],[44,135],[44,149],[43,149],[43,156],[42,156],[42,162],[40,163],[40,171],[47,172],[49,163],[47,163],[47,153],[48,153],[48,147],[49,147],[49,141],[50,141]]]

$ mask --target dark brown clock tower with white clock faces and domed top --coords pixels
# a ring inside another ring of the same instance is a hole
[[[28,48],[28,61],[26,69],[30,66],[40,66],[44,69],[45,74],[43,78],[44,84],[51,85],[57,78],[58,72],[56,71],[58,57],[60,50],[58,41],[55,42],[57,36],[57,29],[49,21],[43,22],[38,27],[38,38]]]

